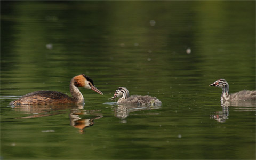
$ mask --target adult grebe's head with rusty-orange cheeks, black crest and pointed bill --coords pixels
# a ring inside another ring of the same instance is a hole
[[[93,81],[90,77],[85,74],[81,74],[74,77],[74,85],[76,87],[84,87],[85,89],[92,89],[93,91],[103,95],[103,93],[94,86]]]

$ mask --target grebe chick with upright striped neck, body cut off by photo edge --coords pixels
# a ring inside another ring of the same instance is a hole
[[[210,86],[219,87],[222,89],[221,101],[253,101],[256,100],[256,91],[242,90],[236,93],[229,94],[229,85],[225,79],[219,79]]]

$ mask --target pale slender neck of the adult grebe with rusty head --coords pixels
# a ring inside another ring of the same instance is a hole
[[[73,100],[76,103],[79,103],[79,104],[84,103],[83,94],[80,92],[78,87],[74,85],[74,78],[72,78],[70,81],[69,90],[70,90]]]

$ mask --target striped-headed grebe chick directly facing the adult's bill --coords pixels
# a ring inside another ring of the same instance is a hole
[[[162,105],[162,102],[156,97],[151,97],[149,95],[141,96],[141,95],[132,95],[129,97],[129,91],[125,87],[119,87],[114,96],[111,98],[114,100],[117,97],[121,97],[118,99],[117,103],[119,104],[133,104],[133,105]]]

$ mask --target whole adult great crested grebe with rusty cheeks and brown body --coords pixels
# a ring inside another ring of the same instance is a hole
[[[98,90],[91,78],[85,74],[77,75],[70,81],[69,89],[72,97],[68,95],[56,92],[56,91],[35,91],[23,95],[21,98],[14,100],[9,105],[47,105],[47,104],[63,104],[63,103],[76,103],[83,104],[84,97],[78,87],[84,87],[85,89],[92,89],[93,91],[103,94]]]

